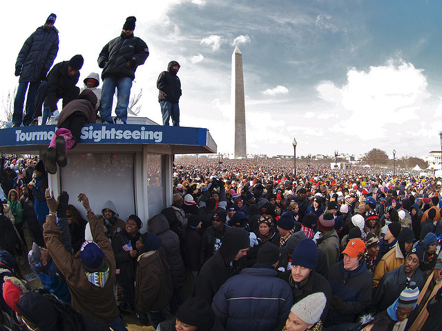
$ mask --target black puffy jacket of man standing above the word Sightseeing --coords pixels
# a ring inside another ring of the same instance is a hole
[[[133,34],[122,34],[106,43],[99,53],[98,66],[104,68],[102,79],[108,76],[130,77],[135,79],[135,70],[141,66],[149,56],[147,45]],[[126,63],[130,63],[127,66]]]

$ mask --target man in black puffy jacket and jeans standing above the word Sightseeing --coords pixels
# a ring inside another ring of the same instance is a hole
[[[98,66],[103,68],[99,112],[103,123],[126,124],[135,70],[146,61],[149,55],[146,43],[133,36],[135,21],[135,17],[128,17],[122,34],[109,41],[99,53]],[[115,88],[117,88],[117,107],[115,108],[117,117],[113,121],[111,114]]]

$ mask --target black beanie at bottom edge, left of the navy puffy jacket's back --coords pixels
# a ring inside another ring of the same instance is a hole
[[[209,303],[198,297],[189,298],[178,309],[175,317],[197,330],[209,330],[215,321],[215,313]]]

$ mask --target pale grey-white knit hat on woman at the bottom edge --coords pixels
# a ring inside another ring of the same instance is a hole
[[[320,315],[323,314],[325,303],[327,303],[327,298],[324,293],[317,292],[295,303],[290,311],[305,323],[314,324],[319,321]]]

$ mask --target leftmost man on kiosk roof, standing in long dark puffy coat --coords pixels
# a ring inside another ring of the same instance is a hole
[[[26,90],[26,114],[23,125],[28,126],[32,121],[34,99],[40,82],[46,79],[46,74],[58,52],[58,31],[54,26],[57,15],[50,14],[44,26],[35,30],[26,39],[21,47],[15,63],[15,76],[19,76],[19,87],[14,100],[14,114],[12,114],[12,126],[20,126],[23,117],[23,102]]]

